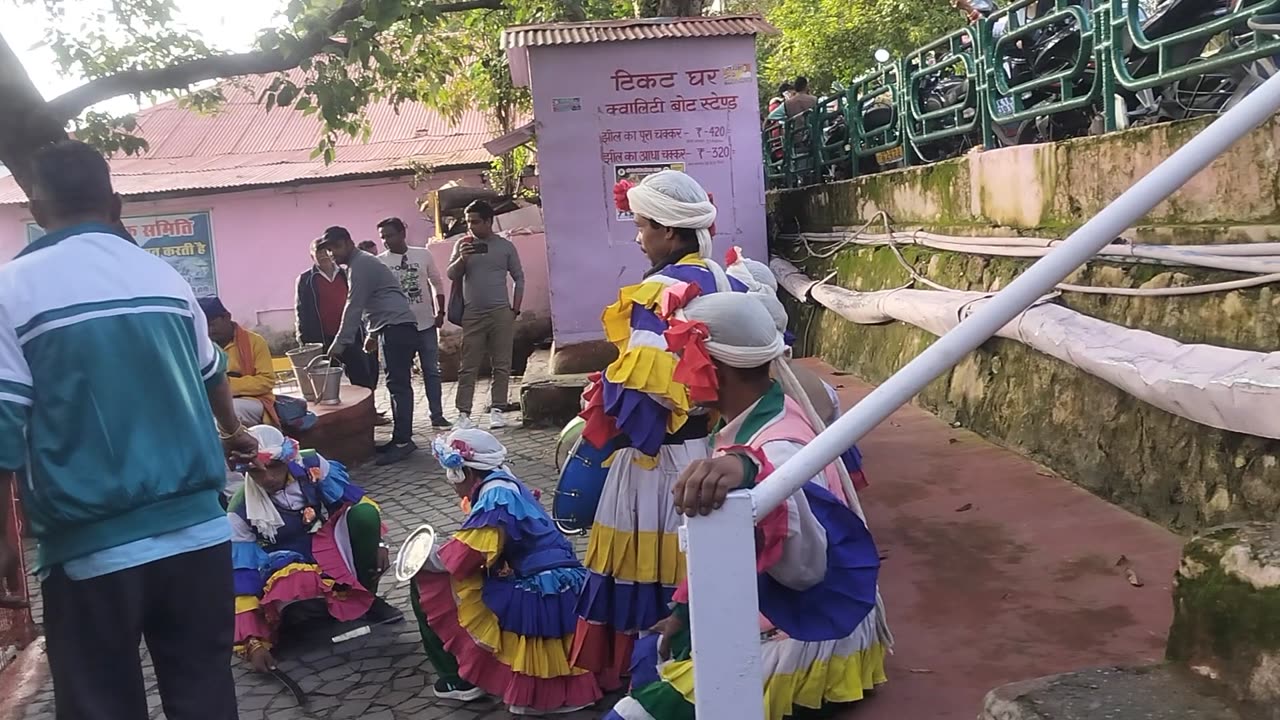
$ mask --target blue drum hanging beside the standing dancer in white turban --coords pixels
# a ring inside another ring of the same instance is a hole
[[[604,492],[604,479],[609,474],[604,461],[622,447],[614,439],[596,448],[582,439],[585,425],[581,418],[564,425],[556,446],[556,465],[561,477],[552,498],[552,520],[566,536],[580,536],[591,529],[600,493]]]

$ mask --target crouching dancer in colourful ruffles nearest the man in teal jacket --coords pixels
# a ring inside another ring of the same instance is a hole
[[[255,425],[261,468],[232,497],[236,651],[255,669],[275,667],[284,607],[324,600],[338,621],[396,623],[404,614],[376,597],[389,565],[378,505],[347,469],[270,425]]]

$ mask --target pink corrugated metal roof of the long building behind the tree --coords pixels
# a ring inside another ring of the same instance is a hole
[[[183,109],[177,101],[138,113],[138,135],[148,150],[111,159],[111,177],[122,195],[262,187],[300,181],[338,179],[408,170],[416,167],[481,165],[493,133],[479,111],[457,123],[416,102],[397,109],[388,101],[365,110],[369,142],[343,137],[329,165],[311,159],[320,120],[293,110],[266,111],[257,104],[274,76],[223,83],[227,101],[212,114]],[[300,79],[294,73],[294,79]],[[12,177],[0,177],[0,205],[26,202]]]

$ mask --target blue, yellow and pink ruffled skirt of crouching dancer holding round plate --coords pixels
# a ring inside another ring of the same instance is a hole
[[[527,578],[419,573],[420,610],[458,661],[463,680],[513,712],[586,707],[600,700],[595,678],[573,667],[573,605],[586,580],[581,568]]]

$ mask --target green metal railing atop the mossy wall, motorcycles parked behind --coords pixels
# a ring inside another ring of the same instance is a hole
[[[1245,24],[1280,10],[1280,0],[1235,0],[1216,12],[1211,0],[1180,0],[1179,10],[1194,17],[1155,19],[1142,15],[1138,0],[1096,1],[1089,9],[1080,0],[1016,0],[879,65],[805,114],[767,122],[768,183],[799,187],[977,145],[1053,140],[1027,135],[1046,118],[1066,136],[1110,132],[1128,123],[1117,106],[1133,110],[1138,94],[1280,55],[1280,38]],[[1170,19],[1176,32],[1158,29]],[[1144,24],[1157,28],[1156,37]],[[1037,58],[1047,37],[1055,53]]]

